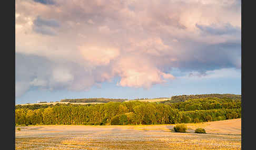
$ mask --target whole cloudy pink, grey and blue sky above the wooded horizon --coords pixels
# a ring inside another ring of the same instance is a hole
[[[15,103],[241,94],[241,1],[15,1]]]

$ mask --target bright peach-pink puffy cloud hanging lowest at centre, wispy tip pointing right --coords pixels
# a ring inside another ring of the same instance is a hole
[[[123,87],[151,88],[154,84],[174,79],[172,74],[164,73],[143,57],[124,57],[115,65],[113,72],[121,77],[117,85]]]

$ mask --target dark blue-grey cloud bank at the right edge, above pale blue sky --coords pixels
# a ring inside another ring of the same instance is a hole
[[[199,44],[194,50],[186,51],[173,66],[186,71],[205,72],[221,68],[241,68],[241,44],[226,42],[214,45]]]

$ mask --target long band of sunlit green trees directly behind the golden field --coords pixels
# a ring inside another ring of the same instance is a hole
[[[199,98],[184,102],[107,102],[103,104],[16,105],[16,125],[176,124],[241,117],[241,100]]]

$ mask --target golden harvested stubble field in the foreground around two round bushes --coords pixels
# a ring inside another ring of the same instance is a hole
[[[241,149],[241,119],[190,123],[188,133],[173,125],[18,126],[16,149]],[[197,127],[207,134],[195,134]]]

